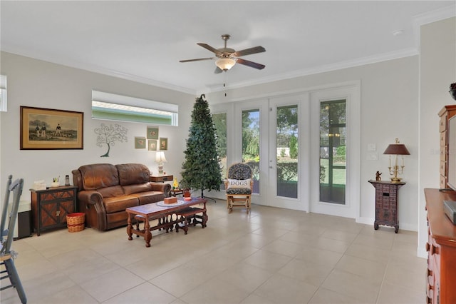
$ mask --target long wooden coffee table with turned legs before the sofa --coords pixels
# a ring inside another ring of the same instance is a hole
[[[150,247],[150,240],[152,240],[152,230],[166,228],[172,228],[177,223],[177,216],[173,219],[173,216],[179,211],[183,211],[190,206],[202,204],[200,213],[202,213],[202,228],[206,227],[207,223],[207,209],[206,209],[206,199],[204,198],[192,198],[191,201],[177,201],[177,204],[170,204],[167,206],[163,205],[163,201],[158,203],[149,203],[146,205],[135,206],[126,208],[125,211],[128,213],[128,226],[127,234],[128,240],[133,240],[133,233],[138,236],[142,236],[145,240],[145,246]],[[132,217],[141,216],[144,219],[144,229],[133,228]],[[164,221],[158,221],[156,226],[150,227],[149,221],[155,219],[165,219]]]

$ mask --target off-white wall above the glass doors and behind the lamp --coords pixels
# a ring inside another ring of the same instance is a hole
[[[305,92],[331,83],[361,81],[361,210],[358,221],[373,224],[375,219],[375,188],[368,180],[375,172],[383,172],[388,180],[388,156],[383,151],[395,138],[400,138],[410,151],[403,174],[407,183],[399,191],[400,228],[418,230],[418,56],[383,61],[349,69],[311,76],[275,81],[248,88],[207,94],[209,102],[239,102],[259,96],[279,96]],[[368,161],[368,143],[375,143],[377,161]]]

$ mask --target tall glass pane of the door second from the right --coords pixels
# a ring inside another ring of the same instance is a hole
[[[277,196],[298,198],[298,106],[277,107]]]

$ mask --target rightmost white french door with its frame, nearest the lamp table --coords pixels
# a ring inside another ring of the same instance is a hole
[[[311,103],[310,211],[358,218],[361,99],[358,85],[315,91]]]

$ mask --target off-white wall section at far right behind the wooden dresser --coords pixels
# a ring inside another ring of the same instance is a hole
[[[456,17],[426,24],[420,29],[420,161],[418,255],[427,256],[427,221],[424,188],[439,188],[439,117],[456,101],[448,93],[456,81]]]

